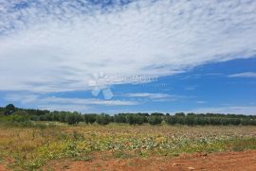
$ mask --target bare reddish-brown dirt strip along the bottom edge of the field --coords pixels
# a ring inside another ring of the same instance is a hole
[[[89,170],[144,170],[144,171],[186,171],[186,170],[225,170],[255,171],[256,150],[240,152],[196,153],[179,157],[152,157],[131,159],[101,159],[91,161],[54,161],[49,162],[44,170],[89,171]],[[0,171],[6,171],[0,165]]]

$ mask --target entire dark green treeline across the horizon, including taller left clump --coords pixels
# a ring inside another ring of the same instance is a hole
[[[168,125],[187,125],[187,126],[228,126],[228,125],[250,125],[256,126],[255,115],[243,114],[222,114],[222,113],[187,113],[179,112],[174,115],[169,113],[118,113],[109,115],[106,113],[86,113],[70,112],[70,111],[41,111],[18,109],[13,105],[0,108],[0,115],[4,116],[0,120],[7,121],[58,121],[70,125],[76,125],[80,122],[86,124],[107,125],[113,123],[125,123],[130,125],[142,125],[148,123],[150,125],[160,125],[167,123]],[[3,119],[4,118],[4,119]]]

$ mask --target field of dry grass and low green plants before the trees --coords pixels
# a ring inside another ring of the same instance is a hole
[[[184,154],[252,149],[256,149],[253,126],[0,125],[0,161],[7,170],[64,170],[76,162],[87,163],[90,170],[112,170],[109,164],[125,162],[132,168],[137,160],[145,165],[147,160],[159,160],[164,166],[164,161]]]

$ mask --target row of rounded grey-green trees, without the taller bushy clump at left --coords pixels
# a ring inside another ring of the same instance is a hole
[[[130,125],[142,125],[145,123],[150,125],[160,125],[165,122],[168,125],[178,124],[187,126],[256,126],[255,116],[219,113],[175,113],[174,115],[163,113],[119,113],[112,116],[105,113],[82,114],[79,112],[53,111],[46,113],[45,115],[31,115],[30,119],[35,121],[59,121],[68,124],[78,124],[80,122],[85,122],[86,124],[98,123],[100,125],[107,125],[111,122],[126,123]]]

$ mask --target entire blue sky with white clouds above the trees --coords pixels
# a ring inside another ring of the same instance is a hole
[[[256,2],[0,0],[0,106],[256,114]]]

